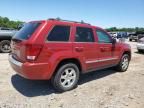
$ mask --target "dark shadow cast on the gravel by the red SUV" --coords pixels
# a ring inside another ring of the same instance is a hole
[[[90,72],[87,74],[82,74],[79,79],[78,85],[83,83],[97,80],[105,76],[116,73],[115,70],[105,69],[95,72]],[[27,97],[35,97],[42,95],[50,95],[52,93],[57,93],[50,84],[50,81],[47,80],[28,80],[17,74],[11,77],[11,82],[13,87],[20,92],[22,95]]]

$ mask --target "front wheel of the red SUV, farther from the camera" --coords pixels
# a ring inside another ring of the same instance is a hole
[[[128,54],[124,54],[119,62],[119,64],[117,65],[116,69],[120,72],[125,72],[128,69],[129,66],[129,62],[130,62],[130,56]]]

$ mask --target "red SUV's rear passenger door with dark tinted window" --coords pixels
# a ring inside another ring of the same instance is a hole
[[[78,55],[85,65],[85,70],[93,70],[98,67],[98,44],[94,39],[92,28],[76,27],[73,49],[75,55]]]

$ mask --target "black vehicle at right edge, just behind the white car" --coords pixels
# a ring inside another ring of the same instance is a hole
[[[129,41],[135,40],[137,42],[142,37],[144,37],[144,32],[131,33],[129,34]]]

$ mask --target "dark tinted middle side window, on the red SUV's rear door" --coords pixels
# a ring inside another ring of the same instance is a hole
[[[93,30],[91,28],[77,27],[75,41],[76,42],[94,42]]]

